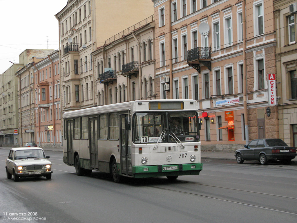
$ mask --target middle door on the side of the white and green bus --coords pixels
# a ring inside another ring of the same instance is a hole
[[[97,117],[90,118],[90,128],[89,128],[89,148],[90,148],[90,162],[91,169],[99,169],[98,165],[98,126]]]

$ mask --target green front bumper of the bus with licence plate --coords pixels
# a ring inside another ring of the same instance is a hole
[[[132,166],[134,178],[199,175],[202,163]]]

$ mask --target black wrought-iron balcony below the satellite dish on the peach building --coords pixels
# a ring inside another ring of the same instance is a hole
[[[211,70],[211,55],[210,47],[196,47],[194,49],[188,50],[187,64],[193,67],[200,73],[200,64],[203,64]]]

